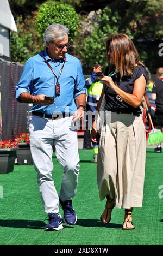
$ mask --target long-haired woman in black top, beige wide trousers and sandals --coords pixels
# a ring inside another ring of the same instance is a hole
[[[101,78],[104,87],[96,109],[105,100],[97,162],[99,197],[106,198],[101,221],[109,223],[116,206],[125,209],[122,229],[134,229],[131,214],[133,207],[142,207],[145,176],[146,136],[140,104],[147,75],[126,34],[110,37],[106,51],[109,70]],[[97,142],[96,120],[92,128],[92,141]]]

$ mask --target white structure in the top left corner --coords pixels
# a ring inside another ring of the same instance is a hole
[[[10,31],[17,32],[8,0],[0,0],[0,57],[10,59]]]

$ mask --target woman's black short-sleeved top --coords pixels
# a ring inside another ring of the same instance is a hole
[[[105,75],[109,75],[111,72],[111,69],[107,67],[105,69]],[[146,73],[145,67],[143,66],[136,66],[134,70],[134,74],[132,76],[123,76],[123,78],[120,79],[120,74],[117,73],[116,75],[112,76],[112,80],[115,82],[115,84],[118,85],[119,88],[121,88],[121,90],[132,94],[133,88],[134,88],[134,82],[136,79],[140,78],[142,74],[143,76],[145,76],[145,79],[147,82],[147,73]],[[135,115],[141,114],[140,107],[134,108],[133,106],[124,102],[124,100],[120,102],[120,100],[116,98],[117,94],[115,93],[115,91],[113,91],[111,88],[109,88],[105,84],[104,84],[104,92],[105,92],[105,98],[106,98],[105,110],[109,110],[117,113],[120,113],[120,112],[134,113]]]

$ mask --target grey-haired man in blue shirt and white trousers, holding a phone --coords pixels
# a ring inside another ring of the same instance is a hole
[[[48,213],[46,230],[60,230],[63,226],[59,203],[65,223],[73,225],[77,221],[72,198],[80,166],[74,123],[84,116],[86,90],[80,61],[67,54],[70,46],[67,27],[53,23],[43,39],[45,50],[28,59],[16,85],[16,99],[33,103],[30,149],[43,207]],[[63,169],[59,197],[52,178],[53,146]]]

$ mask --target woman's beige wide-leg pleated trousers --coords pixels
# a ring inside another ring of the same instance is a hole
[[[118,208],[141,207],[146,158],[142,116],[106,111],[105,120],[97,162],[99,198],[109,194]]]

